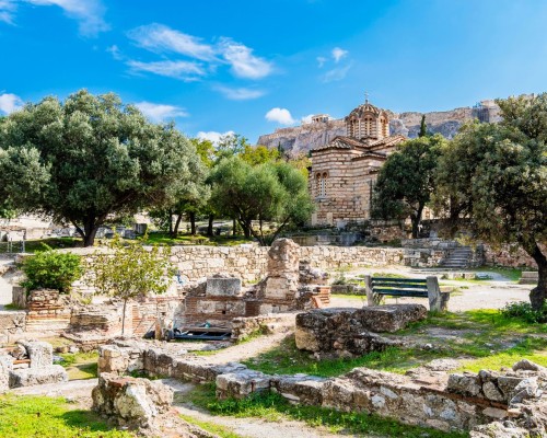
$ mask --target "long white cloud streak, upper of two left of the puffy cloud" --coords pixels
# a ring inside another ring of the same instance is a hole
[[[201,39],[175,31],[163,24],[149,24],[133,28],[128,33],[140,47],[152,51],[174,51],[179,55],[186,55],[201,60],[214,59],[214,49],[202,44]]]

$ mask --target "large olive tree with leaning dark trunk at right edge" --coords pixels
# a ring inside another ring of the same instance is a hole
[[[500,124],[464,126],[443,154],[438,205],[470,219],[479,239],[519,242],[538,265],[538,310],[547,293],[547,94],[497,103]]]

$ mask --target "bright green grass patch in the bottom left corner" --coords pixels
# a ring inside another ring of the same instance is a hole
[[[0,396],[0,437],[3,438],[129,438],[92,412],[74,410],[63,399]]]

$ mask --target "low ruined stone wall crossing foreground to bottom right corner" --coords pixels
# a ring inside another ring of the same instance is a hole
[[[547,403],[547,370],[527,361],[503,373],[452,374],[446,383],[446,378],[427,379],[368,368],[356,368],[333,379],[268,376],[241,364],[213,366],[199,359],[142,343],[117,342],[100,349],[98,371],[123,374],[140,369],[151,376],[216,381],[219,399],[243,399],[254,392],[274,391],[291,403],[371,413],[444,431],[511,420],[524,427],[523,435],[514,437],[546,433],[547,416],[542,410]]]

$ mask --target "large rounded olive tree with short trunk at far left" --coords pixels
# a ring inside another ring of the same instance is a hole
[[[92,245],[108,215],[172,201],[200,172],[195,147],[113,93],[46,97],[0,123],[0,191],[72,223]]]

